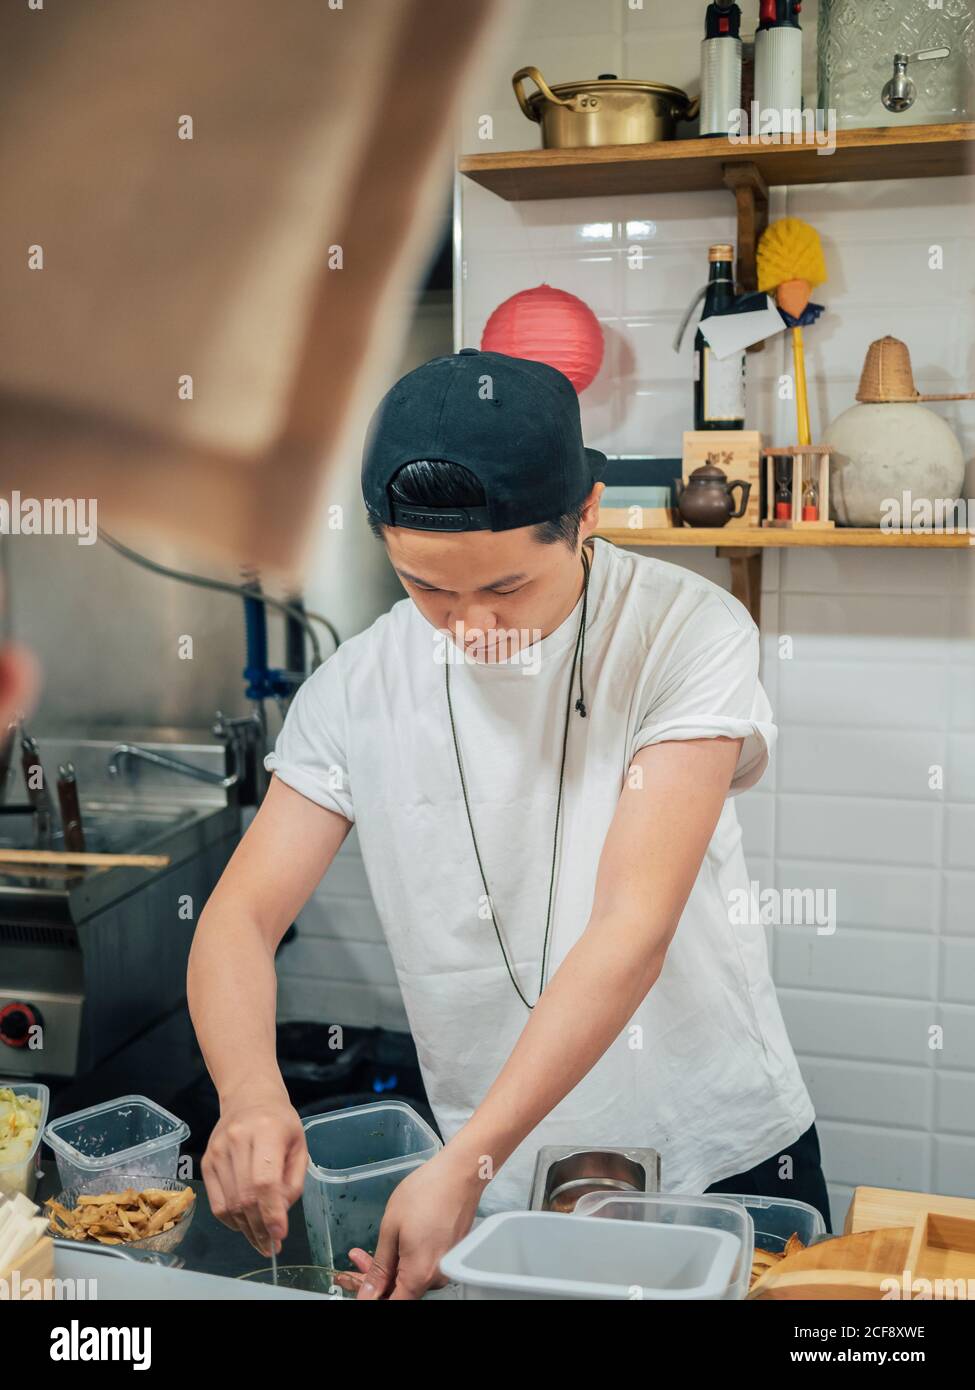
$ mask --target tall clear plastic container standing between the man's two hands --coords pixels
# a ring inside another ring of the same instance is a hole
[[[376,1251],[396,1186],[444,1145],[402,1101],[353,1105],[305,1122],[305,1225],[316,1265],[353,1269],[349,1251]]]

